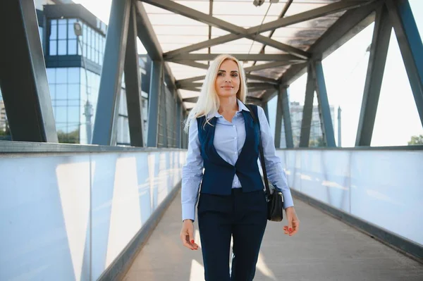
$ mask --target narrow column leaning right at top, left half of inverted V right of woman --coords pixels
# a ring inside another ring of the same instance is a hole
[[[313,100],[314,100],[314,77],[312,63],[307,65],[307,85],[305,87],[305,101],[302,108],[300,147],[308,147],[310,139],[310,127],[312,125]]]

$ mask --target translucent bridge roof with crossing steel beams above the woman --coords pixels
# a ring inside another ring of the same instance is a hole
[[[139,35],[155,60],[166,62],[183,104],[200,94],[209,62],[232,54],[247,74],[247,102],[264,104],[374,21],[384,1],[370,0],[140,0]],[[159,58],[158,58],[159,57]]]

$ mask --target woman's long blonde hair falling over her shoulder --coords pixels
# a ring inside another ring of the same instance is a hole
[[[197,103],[191,109],[188,118],[185,120],[185,132],[188,132],[190,123],[195,118],[206,116],[206,122],[209,123],[209,119],[207,119],[207,114],[211,112],[217,112],[219,110],[220,100],[219,96],[217,95],[216,88],[214,87],[214,82],[216,81],[217,73],[219,72],[221,64],[223,63],[223,61],[226,60],[234,61],[238,65],[238,70],[240,73],[240,89],[238,89],[236,97],[237,99],[245,103],[245,96],[247,96],[247,82],[245,79],[245,71],[243,65],[241,65],[238,59],[234,56],[228,54],[219,55],[214,58],[214,61],[212,61],[212,63],[210,63],[209,69],[206,73],[206,77],[204,78],[204,82]]]

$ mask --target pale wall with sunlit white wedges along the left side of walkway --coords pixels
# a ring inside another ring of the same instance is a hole
[[[1,155],[0,280],[97,280],[180,182],[185,153]]]

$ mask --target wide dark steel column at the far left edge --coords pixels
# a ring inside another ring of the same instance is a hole
[[[0,1],[0,87],[12,139],[59,142],[34,1]]]

